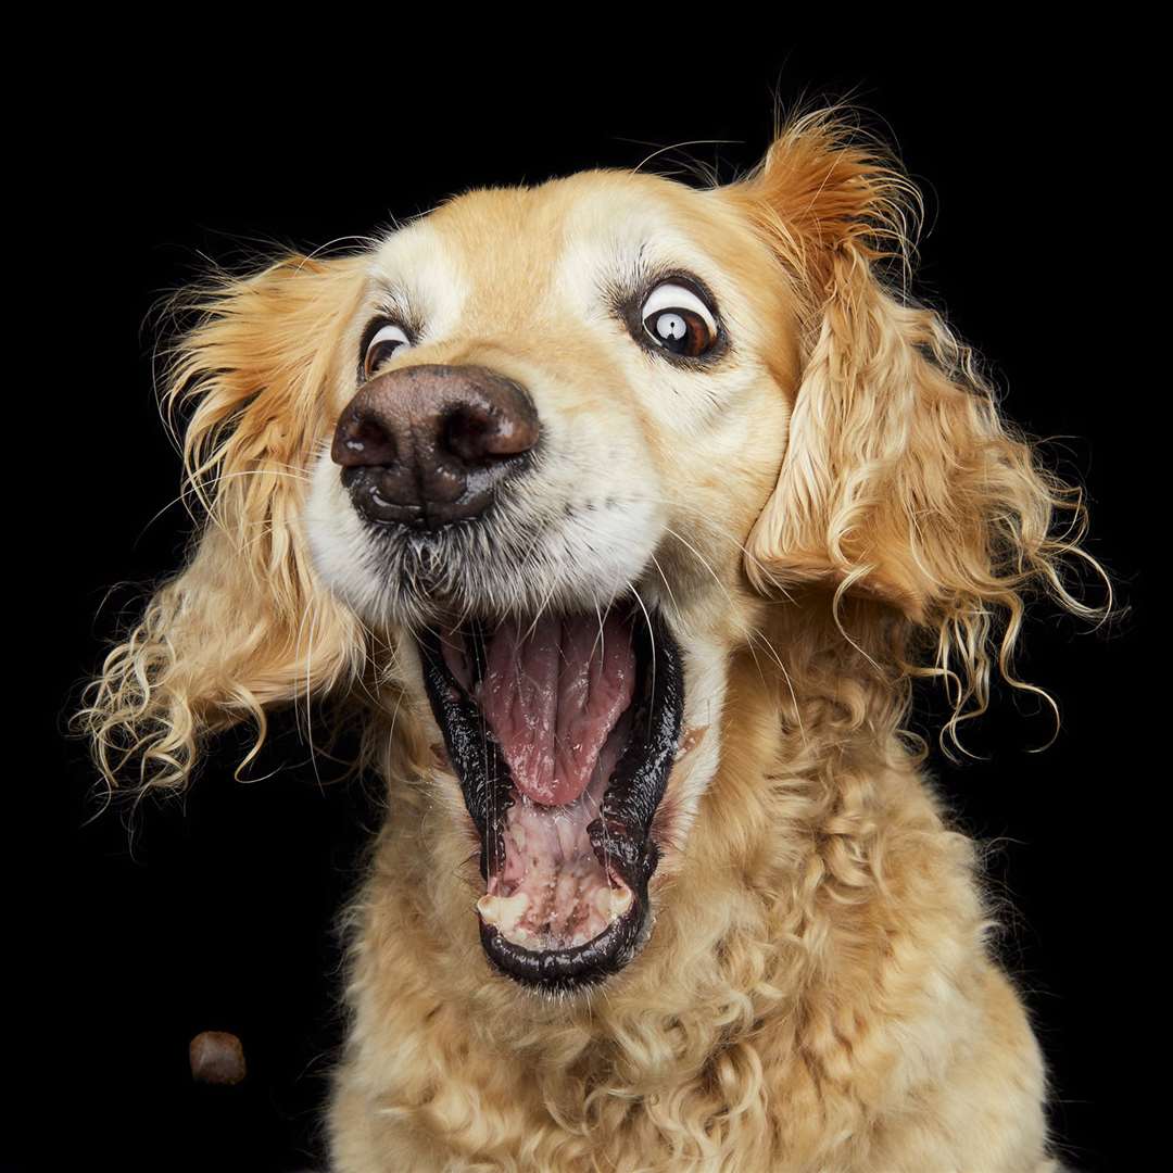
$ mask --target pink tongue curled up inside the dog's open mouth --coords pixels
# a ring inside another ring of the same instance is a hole
[[[574,802],[631,704],[635,678],[628,631],[612,616],[602,632],[595,616],[502,623],[479,699],[517,789],[543,806]]]

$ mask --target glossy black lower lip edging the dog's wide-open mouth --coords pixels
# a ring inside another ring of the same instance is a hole
[[[659,612],[637,622],[633,636],[644,682],[643,694],[633,701],[633,733],[603,794],[599,818],[586,828],[595,854],[631,891],[631,908],[575,949],[523,949],[482,921],[481,943],[489,961],[523,985],[552,992],[604,981],[636,956],[650,933],[647,882],[659,863],[651,823],[680,741],[684,671],[679,646]],[[439,633],[426,631],[418,643],[425,689],[480,833],[481,876],[488,880],[490,863],[495,870],[504,859],[500,821],[489,841],[489,811],[500,815],[514,801],[509,767],[479,706],[448,670]]]

